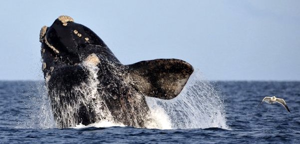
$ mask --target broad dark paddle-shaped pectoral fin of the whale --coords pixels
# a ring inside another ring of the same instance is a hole
[[[173,99],[183,89],[193,67],[179,59],[155,59],[140,61],[129,67],[132,86],[145,96]]]

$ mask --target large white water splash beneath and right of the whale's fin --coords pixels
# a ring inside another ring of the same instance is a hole
[[[226,125],[225,108],[220,94],[204,80],[202,73],[195,70],[179,96],[172,100],[147,97],[151,113],[161,108],[161,113],[168,115],[156,118],[172,129],[229,129]],[[154,118],[155,119],[155,118]]]

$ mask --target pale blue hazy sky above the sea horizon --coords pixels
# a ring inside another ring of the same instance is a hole
[[[0,80],[43,79],[39,31],[59,15],[92,29],[123,64],[177,58],[211,80],[300,80],[300,0],[5,0],[0,9]]]

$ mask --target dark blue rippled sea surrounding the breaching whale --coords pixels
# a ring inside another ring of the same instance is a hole
[[[170,129],[123,126],[57,129],[42,81],[0,81],[0,143],[300,144],[300,82],[197,84],[185,89],[177,100],[183,106],[182,111],[152,100],[165,109]],[[265,96],[273,95],[285,99],[291,113],[279,104],[263,103],[256,108]],[[185,98],[189,96],[193,98]],[[174,110],[176,113],[171,112]]]

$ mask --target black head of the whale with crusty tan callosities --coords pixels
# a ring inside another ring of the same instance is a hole
[[[94,52],[92,48],[95,47],[98,51],[111,53],[103,40],[91,29],[75,23],[72,17],[65,15],[59,16],[51,26],[41,28],[40,42],[43,43],[42,57],[52,55],[70,65],[82,62]]]

